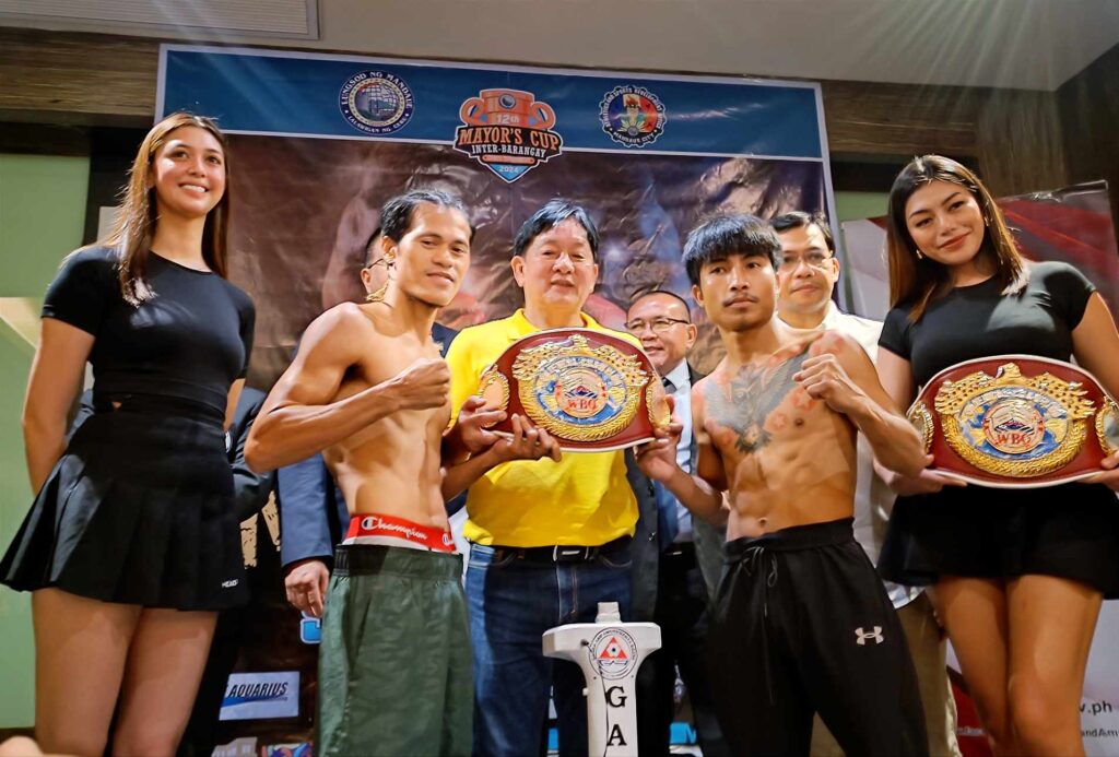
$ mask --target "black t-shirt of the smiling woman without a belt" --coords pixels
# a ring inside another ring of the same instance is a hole
[[[139,307],[124,301],[116,253],[81,249],[47,288],[43,316],[96,338],[90,362],[98,396],[157,395],[204,403],[225,413],[229,385],[245,376],[256,311],[215,273],[152,253],[145,280],[156,293]]]

